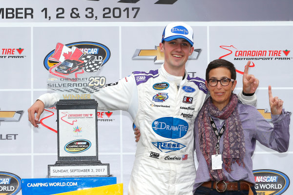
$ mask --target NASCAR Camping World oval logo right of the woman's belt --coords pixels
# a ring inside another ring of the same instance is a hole
[[[253,175],[257,195],[280,195],[290,185],[289,177],[276,170],[255,170]]]

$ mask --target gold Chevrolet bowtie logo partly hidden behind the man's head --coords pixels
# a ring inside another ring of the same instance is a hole
[[[197,59],[201,49],[195,49],[188,59]],[[164,63],[164,52],[160,51],[160,47],[155,46],[155,49],[136,49],[132,59],[152,59],[155,64]]]

